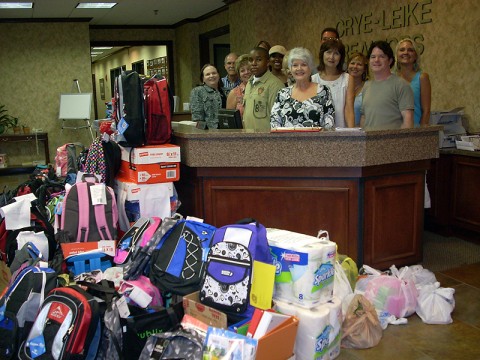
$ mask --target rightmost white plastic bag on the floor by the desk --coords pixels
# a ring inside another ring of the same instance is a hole
[[[425,324],[450,324],[455,309],[455,289],[442,288],[440,283],[424,285],[420,289],[417,315]]]

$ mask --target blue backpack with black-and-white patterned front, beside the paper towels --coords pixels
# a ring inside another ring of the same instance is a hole
[[[253,261],[273,264],[265,227],[241,220],[218,228],[207,255],[200,302],[227,313],[251,317]]]

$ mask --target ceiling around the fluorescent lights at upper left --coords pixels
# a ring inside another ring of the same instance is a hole
[[[173,26],[225,6],[224,0],[0,0],[33,1],[33,9],[0,9],[4,19],[90,18],[95,26]],[[80,2],[117,2],[112,9],[76,9]]]

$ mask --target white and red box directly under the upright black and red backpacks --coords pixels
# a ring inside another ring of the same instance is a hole
[[[130,151],[132,152],[132,163],[135,165],[146,165],[165,162],[180,162],[180,146],[173,144],[148,145],[138,148],[120,147],[122,160],[130,162]]]

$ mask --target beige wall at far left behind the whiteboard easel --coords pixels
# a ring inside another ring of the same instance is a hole
[[[0,104],[21,123],[48,132],[52,160],[66,142],[90,144],[86,130],[62,134],[58,119],[60,94],[72,92],[73,79],[92,92],[88,23],[4,23],[0,34]],[[44,160],[42,145],[37,154],[34,143],[0,144],[0,152],[10,163]]]

